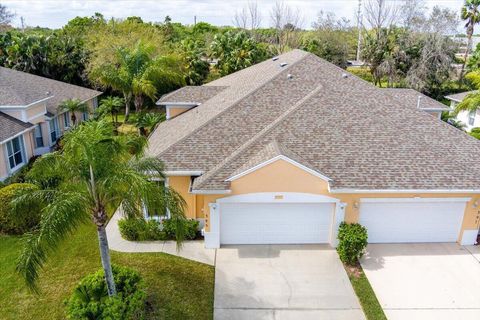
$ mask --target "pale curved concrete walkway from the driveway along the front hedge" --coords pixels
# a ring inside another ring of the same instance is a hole
[[[121,213],[117,211],[107,225],[108,244],[111,250],[119,252],[163,252],[201,263],[215,265],[215,249],[205,249],[202,240],[185,241],[177,251],[175,241],[128,241],[122,238],[118,229]]]

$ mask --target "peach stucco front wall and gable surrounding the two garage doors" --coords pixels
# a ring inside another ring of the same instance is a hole
[[[180,177],[171,177],[180,178]],[[186,178],[186,177],[184,177]],[[190,181],[190,178],[188,178]],[[172,185],[172,184],[171,184]],[[175,188],[174,185],[172,187]],[[176,189],[176,188],[175,188]],[[177,190],[177,189],[176,189]],[[470,202],[467,203],[462,231],[459,234],[459,241],[462,237],[463,230],[478,229],[480,217],[480,208],[475,208],[475,202],[480,202],[479,194],[471,193],[358,193],[358,194],[335,194],[328,191],[328,184],[325,180],[314,176],[297,166],[294,166],[284,160],[278,160],[254,172],[231,182],[231,194],[228,195],[193,195],[185,188],[185,182],[179,190],[177,190],[187,201],[193,203],[196,201],[196,211],[189,209],[189,215],[201,214],[205,217],[205,228],[209,231],[209,203],[215,202],[217,199],[231,195],[255,193],[255,192],[302,192],[322,194],[329,197],[339,199],[347,204],[345,208],[345,220],[347,222],[357,222],[359,218],[359,203],[361,198],[457,198],[469,197]],[[196,200],[193,200],[196,199]],[[200,204],[200,205],[199,205]]]

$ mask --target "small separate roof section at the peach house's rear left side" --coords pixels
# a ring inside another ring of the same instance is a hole
[[[168,103],[201,104],[224,90],[224,86],[183,87],[166,94],[157,101],[158,105]]]

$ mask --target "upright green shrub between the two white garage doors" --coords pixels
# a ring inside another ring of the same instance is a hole
[[[342,222],[338,229],[338,255],[340,260],[355,265],[365,253],[367,247],[367,229],[358,223]]]

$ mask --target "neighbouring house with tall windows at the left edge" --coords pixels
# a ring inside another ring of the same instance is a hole
[[[99,91],[0,67],[0,181],[35,156],[49,152],[68,128],[71,116],[58,106],[79,99],[90,110]],[[80,121],[88,113],[78,114]]]

